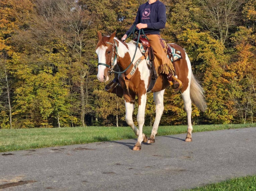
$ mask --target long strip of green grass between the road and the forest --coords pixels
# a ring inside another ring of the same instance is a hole
[[[256,124],[195,125],[193,132],[253,127]],[[143,127],[150,135],[152,127]],[[158,136],[186,133],[187,126],[160,126]],[[136,138],[130,127],[0,129],[0,152]],[[185,137],[184,137],[185,138]]]

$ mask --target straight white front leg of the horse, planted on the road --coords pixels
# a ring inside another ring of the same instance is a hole
[[[145,121],[145,108],[146,108],[146,99],[147,95],[143,94],[138,95],[138,114],[137,114],[137,123],[139,126],[139,135],[136,144],[133,147],[133,150],[141,150],[141,142],[146,142],[147,137],[142,133],[144,121]]]

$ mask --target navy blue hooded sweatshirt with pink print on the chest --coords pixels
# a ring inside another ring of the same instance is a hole
[[[133,25],[125,34],[130,34],[139,23],[147,24],[147,28],[143,29],[145,34],[160,35],[160,29],[163,29],[166,23],[165,5],[160,1],[140,5]]]

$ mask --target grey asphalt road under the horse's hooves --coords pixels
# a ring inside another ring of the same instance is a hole
[[[256,174],[256,127],[0,153],[0,190],[165,191]]]

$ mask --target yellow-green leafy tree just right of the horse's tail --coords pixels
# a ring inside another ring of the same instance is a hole
[[[209,33],[196,30],[187,30],[180,38],[185,44],[194,74],[200,74],[196,76],[202,81],[208,105],[205,118],[211,123],[230,123],[233,103],[229,99],[228,81],[224,78],[229,57],[224,54],[223,43],[213,39]]]

